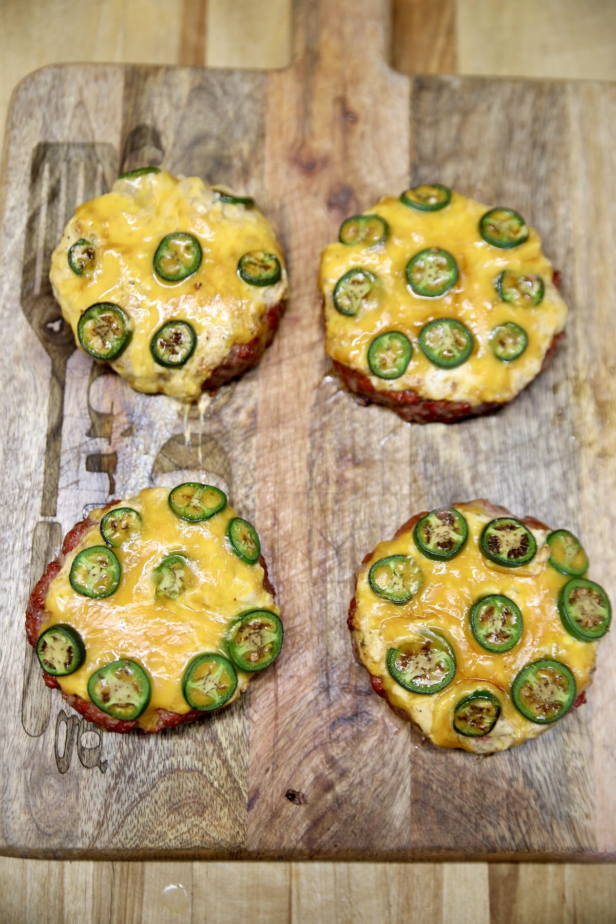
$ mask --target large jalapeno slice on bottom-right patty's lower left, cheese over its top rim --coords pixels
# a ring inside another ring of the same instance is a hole
[[[412,693],[439,693],[455,675],[453,648],[438,632],[421,629],[400,648],[387,652],[387,669],[401,687]]]

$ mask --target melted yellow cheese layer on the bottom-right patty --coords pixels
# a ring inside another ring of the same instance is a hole
[[[380,542],[357,577],[353,633],[361,662],[371,675],[380,678],[387,699],[404,710],[435,745],[489,753],[522,744],[549,727],[530,722],[513,705],[513,679],[525,664],[539,658],[564,663],[573,672],[579,695],[590,684],[597,643],[578,641],[562,626],[557,600],[570,578],[549,564],[548,530],[531,529],[537,553],[527,565],[503,567],[490,562],[478,546],[485,525],[499,515],[480,501],[454,508],[465,517],[468,538],[463,550],[450,561],[432,561],[419,553],[412,529],[397,539]],[[405,604],[383,599],[368,583],[370,566],[393,554],[411,556],[423,576],[421,589]],[[469,627],[470,608],[491,594],[517,603],[523,617],[521,638],[511,650],[499,654],[483,649]],[[405,638],[422,627],[446,638],[455,655],[453,680],[432,695],[402,687],[386,663],[388,651],[404,645]],[[461,699],[477,689],[496,695],[501,716],[489,735],[463,736],[453,728],[453,711]]]

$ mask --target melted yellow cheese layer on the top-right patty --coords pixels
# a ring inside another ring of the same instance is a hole
[[[541,251],[537,231],[513,249],[498,249],[479,235],[478,225],[488,206],[452,193],[440,212],[418,212],[391,196],[381,199],[370,214],[389,225],[385,242],[375,248],[360,244],[330,244],[320,261],[320,289],[325,299],[325,349],[332,359],[368,375],[380,391],[412,389],[433,400],[505,402],[535,378],[555,334],[564,328],[567,307],[552,282],[550,261]],[[406,263],[419,250],[437,247],[453,254],[459,278],[440,298],[417,296],[406,284]],[[363,267],[377,277],[355,316],[341,314],[333,305],[333,289],[344,273]],[[508,268],[543,276],[545,295],[535,308],[516,308],[501,301],[494,285]],[[435,318],[456,318],[475,339],[473,353],[455,369],[441,369],[419,346],[421,328]],[[514,322],[525,329],[528,346],[513,362],[497,359],[490,346],[494,327]],[[385,380],[372,375],[368,346],[385,331],[402,331],[411,341],[413,357],[405,374]]]

